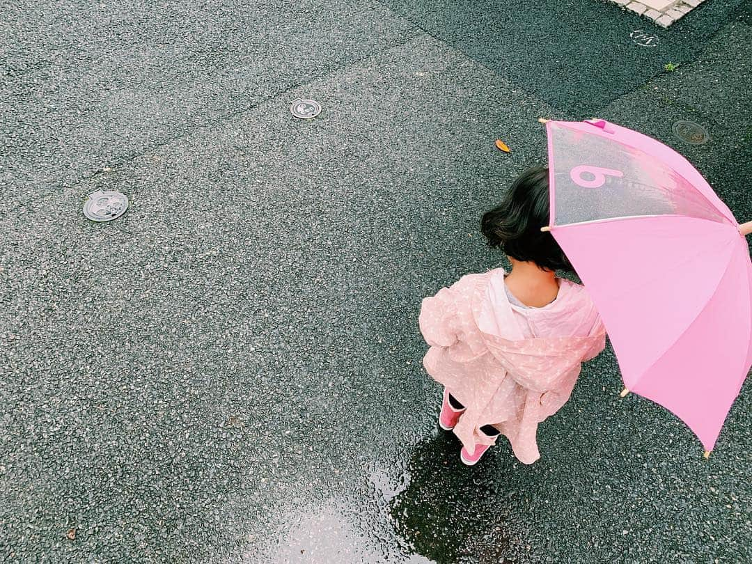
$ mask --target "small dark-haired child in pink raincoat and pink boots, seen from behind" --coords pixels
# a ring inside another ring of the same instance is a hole
[[[442,429],[462,442],[473,465],[499,434],[525,464],[540,457],[538,423],[569,399],[581,362],[605,347],[605,329],[584,287],[556,277],[572,271],[549,232],[548,169],[532,168],[502,205],[484,214],[481,232],[512,269],[468,274],[423,299],[420,331],[430,348],[426,371],[444,385]]]

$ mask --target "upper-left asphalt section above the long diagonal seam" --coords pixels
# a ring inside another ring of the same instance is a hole
[[[415,35],[377,2],[21,2],[0,178],[54,190]]]

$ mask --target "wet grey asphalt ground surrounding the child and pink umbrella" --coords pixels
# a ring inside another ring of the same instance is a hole
[[[653,135],[752,219],[750,2],[529,4],[2,4],[3,561],[752,560],[748,384],[708,461],[610,347],[534,465],[435,425],[420,300],[504,264],[479,215],[538,117]]]

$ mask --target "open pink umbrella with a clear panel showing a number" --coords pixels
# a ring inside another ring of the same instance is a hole
[[[544,230],[600,311],[623,395],[672,411],[708,456],[752,365],[752,222],[739,226],[655,139],[603,120],[546,123]]]

